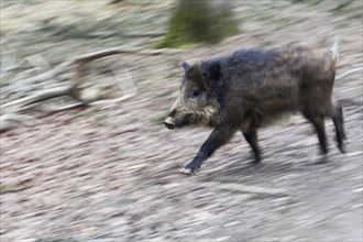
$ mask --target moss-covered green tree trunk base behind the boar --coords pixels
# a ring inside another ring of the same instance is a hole
[[[238,33],[230,9],[217,9],[208,1],[179,0],[165,37],[156,47],[179,47],[191,43],[218,43]]]

